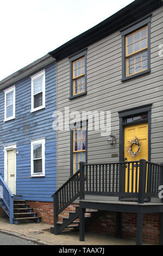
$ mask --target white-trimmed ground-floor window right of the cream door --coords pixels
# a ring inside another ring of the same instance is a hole
[[[31,175],[45,176],[45,138],[31,142]]]

